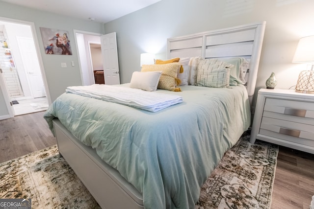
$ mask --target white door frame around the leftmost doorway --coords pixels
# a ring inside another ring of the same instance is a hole
[[[45,87],[45,92],[46,92],[46,95],[47,95],[48,104],[51,104],[52,101],[51,101],[50,91],[49,91],[48,83],[47,83],[47,79],[46,79],[46,73],[45,73],[45,69],[44,69],[43,59],[42,59],[42,56],[41,56],[41,53],[40,53],[40,47],[39,47],[38,37],[37,37],[37,33],[36,33],[35,23],[28,22],[28,21],[11,19],[11,18],[5,18],[5,17],[1,17],[1,16],[0,16],[0,21],[8,22],[8,23],[16,23],[16,24],[25,24],[25,25],[29,25],[30,26],[30,29],[31,29],[31,32],[32,32],[32,36],[33,36],[33,39],[34,39],[35,50],[36,50],[36,54],[37,54],[37,58],[38,58],[38,62],[39,62],[40,71],[41,71],[42,79],[43,79],[43,82],[44,82],[44,87]],[[0,75],[0,76],[1,76],[1,79],[0,79],[0,84],[1,84],[2,82],[4,82],[4,80],[2,78],[2,75]],[[2,93],[3,93],[3,96],[4,96],[5,103],[6,103],[6,107],[7,107],[8,113],[9,113],[9,117],[14,117],[14,110],[13,110],[13,107],[10,105],[11,99],[10,99],[10,97],[8,95],[5,83],[3,83],[3,85],[1,85],[1,89],[2,89]],[[2,118],[2,119],[5,119],[5,118]]]

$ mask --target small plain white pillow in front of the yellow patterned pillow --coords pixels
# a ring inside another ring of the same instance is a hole
[[[130,88],[141,89],[148,92],[157,90],[162,71],[138,72],[132,74]]]

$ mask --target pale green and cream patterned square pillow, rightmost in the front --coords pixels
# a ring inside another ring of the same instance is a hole
[[[197,67],[197,86],[229,88],[232,64],[218,59],[199,59]]]

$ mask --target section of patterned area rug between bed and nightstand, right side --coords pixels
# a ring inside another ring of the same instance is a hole
[[[244,134],[201,188],[195,209],[269,209],[278,146]]]

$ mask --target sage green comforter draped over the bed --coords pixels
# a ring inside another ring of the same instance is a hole
[[[128,84],[122,85],[128,87]],[[244,86],[183,86],[183,102],[156,113],[64,93],[45,113],[142,192],[145,209],[192,209],[200,187],[250,125]],[[105,188],[104,188],[105,189]]]

